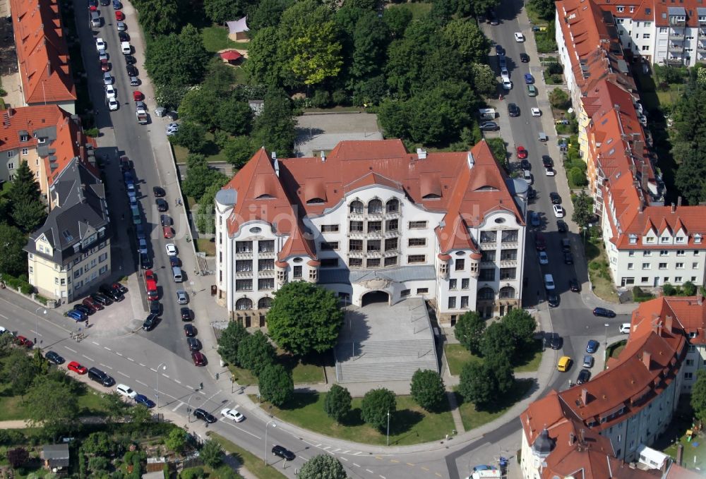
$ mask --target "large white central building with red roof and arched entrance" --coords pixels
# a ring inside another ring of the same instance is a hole
[[[342,301],[429,300],[439,322],[520,306],[527,183],[484,141],[408,153],[400,140],[344,141],[330,154],[258,151],[216,195],[218,298],[265,325],[273,293],[310,281]]]

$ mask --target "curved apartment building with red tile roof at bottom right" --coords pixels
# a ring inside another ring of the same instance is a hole
[[[647,475],[640,461],[666,430],[695,370],[705,368],[706,305],[702,297],[662,297],[633,313],[628,344],[585,384],[552,391],[520,415],[522,476],[527,479],[690,478],[683,468]],[[695,476],[698,477],[698,476]]]

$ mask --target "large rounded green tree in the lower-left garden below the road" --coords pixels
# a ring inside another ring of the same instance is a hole
[[[78,430],[76,396],[64,382],[39,376],[27,392],[25,400],[27,418],[42,435],[56,439],[60,434]]]

